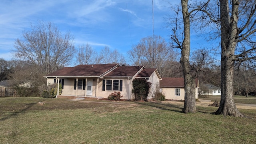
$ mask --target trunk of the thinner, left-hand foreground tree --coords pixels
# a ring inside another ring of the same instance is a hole
[[[182,43],[180,62],[183,68],[185,101],[183,113],[196,112],[195,81],[190,70],[190,19],[188,12],[188,0],[181,0],[184,22],[184,41]]]

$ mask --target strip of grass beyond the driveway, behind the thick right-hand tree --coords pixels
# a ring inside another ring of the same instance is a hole
[[[215,102],[217,100],[220,102],[220,96],[209,96],[208,98],[199,98],[203,100],[211,100],[212,102]],[[256,104],[256,96],[240,96],[240,95],[234,95],[235,103],[241,103],[241,104]]]

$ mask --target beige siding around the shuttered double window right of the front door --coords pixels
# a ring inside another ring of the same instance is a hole
[[[110,95],[111,93],[119,92],[118,90],[106,90],[106,88],[105,88],[105,91],[103,91],[102,90],[102,80],[103,79],[99,80],[98,97],[108,98],[108,95]],[[120,92],[121,96],[123,96],[123,97],[121,99],[125,99],[125,100],[129,99],[129,81],[130,80],[128,78],[123,78],[123,79],[120,79],[120,78],[106,78],[104,80],[112,80],[112,83],[113,83],[113,80],[123,80],[123,86],[122,86],[123,90],[122,90],[122,92]],[[113,88],[113,86],[112,86],[112,88]]]

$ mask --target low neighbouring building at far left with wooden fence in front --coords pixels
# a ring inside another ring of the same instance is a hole
[[[3,80],[0,82],[0,96],[16,96],[14,86],[31,88],[32,84],[28,80]]]

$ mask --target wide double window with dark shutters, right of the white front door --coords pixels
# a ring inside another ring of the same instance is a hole
[[[113,81],[113,83],[112,83]],[[123,80],[102,80],[102,90],[123,91]]]

